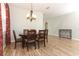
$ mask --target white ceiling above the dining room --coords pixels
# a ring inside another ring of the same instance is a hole
[[[11,3],[9,5],[26,10],[31,9],[31,3]],[[32,8],[33,11],[42,12],[47,16],[52,15],[52,17],[79,10],[78,4],[68,3],[32,3]]]

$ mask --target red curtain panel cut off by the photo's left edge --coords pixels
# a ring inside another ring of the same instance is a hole
[[[2,35],[2,15],[1,15],[1,4],[0,4],[0,56],[3,55],[3,35]]]

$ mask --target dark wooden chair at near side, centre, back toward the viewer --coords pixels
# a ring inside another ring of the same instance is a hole
[[[26,46],[27,50],[29,50],[29,44],[32,44],[35,46],[36,49],[36,30],[30,30],[27,34],[27,40],[26,40]]]

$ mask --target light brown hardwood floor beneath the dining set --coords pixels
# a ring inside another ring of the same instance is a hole
[[[27,51],[27,47],[22,49],[21,44],[17,45],[14,49],[14,43],[4,49],[5,56],[77,56],[79,55],[79,41],[49,37],[46,47],[41,44],[40,49],[34,49],[30,47]]]

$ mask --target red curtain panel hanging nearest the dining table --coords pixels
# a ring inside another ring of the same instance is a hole
[[[10,45],[11,43],[11,35],[10,35],[10,11],[9,5],[5,3],[6,9],[6,45]]]

